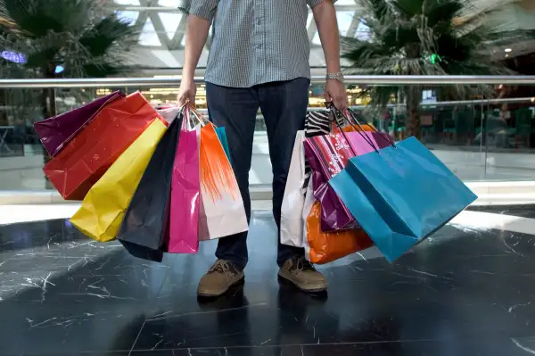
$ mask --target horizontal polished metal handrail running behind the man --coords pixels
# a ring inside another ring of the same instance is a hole
[[[203,83],[202,77],[195,82]],[[325,77],[313,76],[320,84]],[[89,78],[89,79],[0,79],[0,88],[65,88],[65,87],[177,87],[179,78]],[[535,85],[535,76],[346,76],[347,84],[378,85]]]

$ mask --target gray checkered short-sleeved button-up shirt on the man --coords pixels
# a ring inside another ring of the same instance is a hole
[[[205,80],[253,87],[310,78],[307,4],[323,1],[178,0],[178,8],[213,21]]]

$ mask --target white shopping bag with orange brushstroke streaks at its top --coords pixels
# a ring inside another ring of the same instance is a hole
[[[216,128],[200,132],[201,208],[199,240],[231,236],[249,229],[242,194]]]

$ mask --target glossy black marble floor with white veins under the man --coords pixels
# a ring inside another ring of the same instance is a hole
[[[535,354],[535,236],[447,226],[320,267],[319,295],[277,280],[275,238],[256,213],[245,285],[203,301],[215,242],[152,263],[65,220],[0,227],[0,355]]]

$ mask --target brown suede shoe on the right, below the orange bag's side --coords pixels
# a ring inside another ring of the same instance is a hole
[[[304,292],[324,292],[327,280],[304,257],[293,258],[284,262],[279,269],[279,276],[292,282]]]

